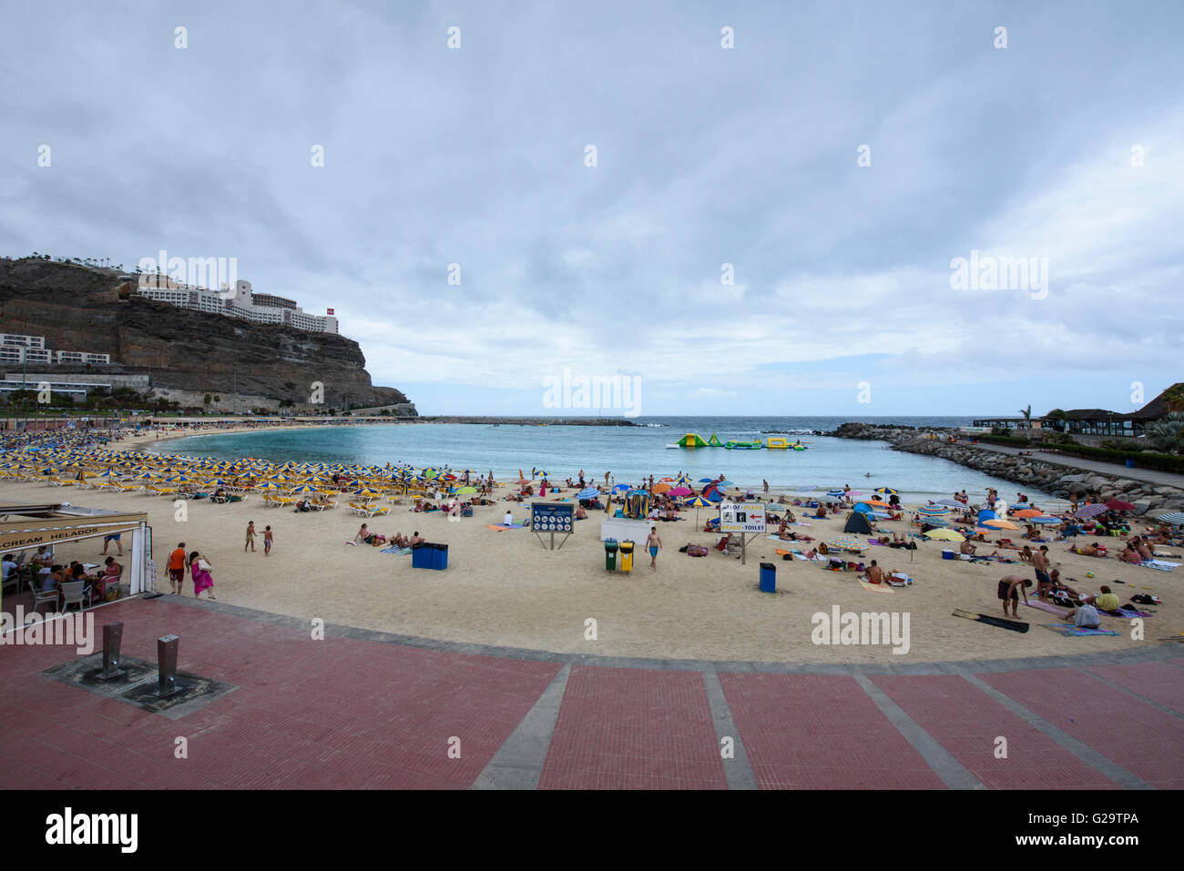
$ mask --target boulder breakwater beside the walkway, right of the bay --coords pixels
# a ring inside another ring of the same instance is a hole
[[[938,438],[927,438],[927,433],[935,433]],[[915,430],[883,424],[843,424],[826,434],[836,438],[883,440],[894,451],[940,457],[1004,480],[1040,488],[1062,498],[1074,495],[1085,496],[1086,493],[1099,496],[1102,501],[1121,498],[1135,505],[1135,514],[1140,515],[1147,511],[1175,511],[1184,508],[1184,490],[1179,488],[1131,480],[1119,475],[1081,471],[1073,465],[1073,457],[1066,457],[1063,464],[1045,463],[1031,457],[992,451],[987,447],[944,441],[945,436],[959,434],[954,430]]]

